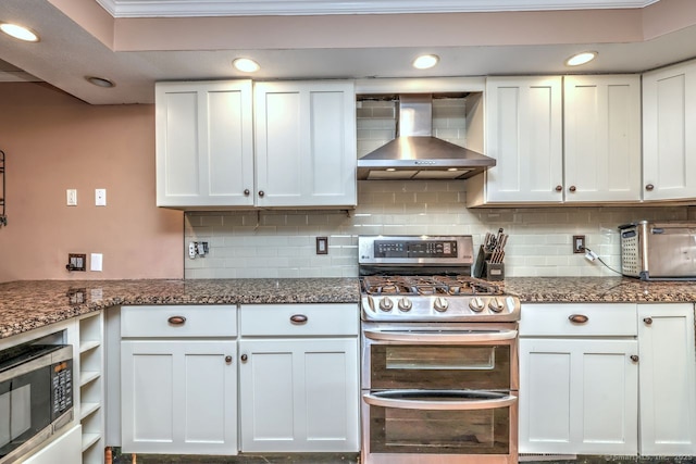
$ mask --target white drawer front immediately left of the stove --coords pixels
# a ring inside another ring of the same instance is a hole
[[[241,306],[241,335],[358,335],[357,304],[249,304]]]

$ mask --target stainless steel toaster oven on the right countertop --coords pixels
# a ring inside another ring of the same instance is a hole
[[[619,230],[624,276],[696,280],[696,223],[641,221]]]

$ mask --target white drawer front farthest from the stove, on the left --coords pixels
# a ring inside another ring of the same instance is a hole
[[[235,337],[234,305],[123,306],[122,337]],[[176,321],[175,318],[183,318]]]

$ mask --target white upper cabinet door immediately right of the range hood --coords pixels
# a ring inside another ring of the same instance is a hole
[[[486,83],[489,203],[563,200],[561,77],[490,77]],[[557,190],[560,187],[560,190]]]

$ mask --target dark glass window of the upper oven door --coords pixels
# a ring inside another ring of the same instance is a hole
[[[371,389],[510,389],[510,346],[372,344]]]

